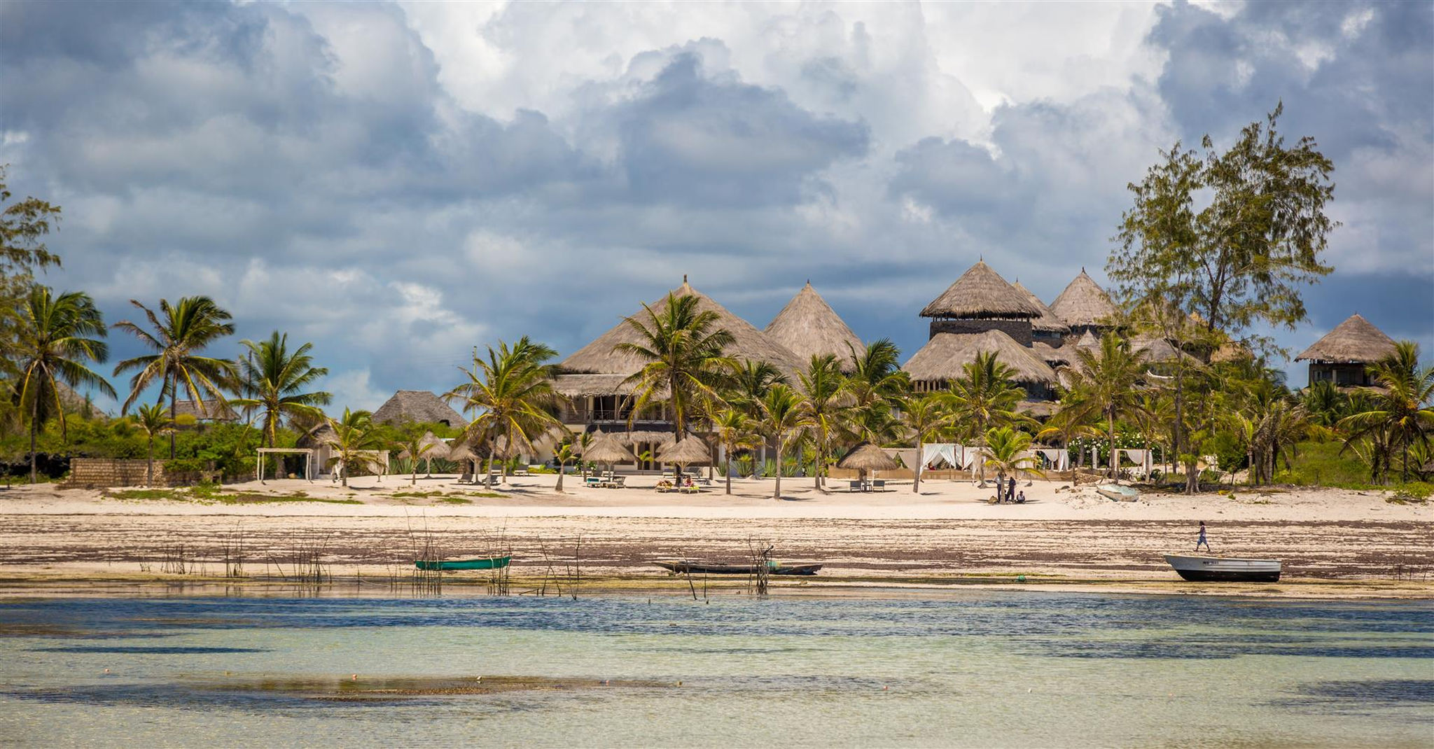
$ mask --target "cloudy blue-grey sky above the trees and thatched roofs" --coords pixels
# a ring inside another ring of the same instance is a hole
[[[759,327],[810,278],[911,353],[978,257],[1047,301],[1104,281],[1157,149],[1279,100],[1344,222],[1279,341],[1359,311],[1434,350],[1428,3],[0,4],[47,283],[112,320],[209,294],[356,408],[498,339],[572,352],[683,274]]]

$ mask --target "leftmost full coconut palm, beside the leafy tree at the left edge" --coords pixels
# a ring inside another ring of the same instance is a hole
[[[98,387],[115,397],[105,377],[83,364],[109,357],[109,349],[99,340],[105,333],[105,317],[95,300],[80,291],[53,296],[47,287],[34,286],[20,307],[14,341],[19,374],[13,387],[19,410],[30,420],[30,484],[36,482],[34,438],[40,426],[57,418],[60,438],[67,439],[60,383]]]

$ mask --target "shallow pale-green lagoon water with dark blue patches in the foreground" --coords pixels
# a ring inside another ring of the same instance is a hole
[[[1434,745],[1427,601],[11,598],[0,634],[0,745]],[[614,682],[257,689],[356,673]]]

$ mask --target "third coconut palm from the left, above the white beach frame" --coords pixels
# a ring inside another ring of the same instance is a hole
[[[282,419],[323,418],[324,412],[318,406],[327,406],[333,396],[324,390],[303,392],[328,374],[328,369],[313,366],[308,354],[311,343],[290,352],[288,333],[281,334],[278,330],[268,340],[239,343],[250,350],[250,356],[238,362],[238,380],[247,397],[232,399],[229,403],[262,409],[262,432],[270,448],[274,446]]]

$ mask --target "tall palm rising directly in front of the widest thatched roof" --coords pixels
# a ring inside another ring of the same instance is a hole
[[[733,343],[731,331],[717,327],[714,310],[700,310],[691,294],[667,294],[660,310],[642,304],[642,314],[627,323],[638,333],[638,343],[618,343],[614,352],[627,352],[645,362],[642,369],[622,380],[634,386],[637,402],[632,416],[650,403],[665,397],[677,428],[677,439],[687,436],[687,422],[703,405],[721,400],[724,373],[736,362],[723,353]],[[678,479],[681,468],[678,468]]]

